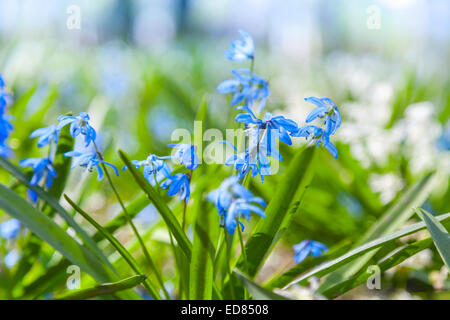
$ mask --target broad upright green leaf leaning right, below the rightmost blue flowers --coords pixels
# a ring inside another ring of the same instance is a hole
[[[312,163],[316,148],[299,150],[292,159],[286,173],[279,180],[275,194],[266,209],[266,218],[261,219],[245,246],[248,260],[248,275],[254,277],[279,239],[291,203],[300,199],[311,182]],[[245,270],[242,256],[238,268]]]

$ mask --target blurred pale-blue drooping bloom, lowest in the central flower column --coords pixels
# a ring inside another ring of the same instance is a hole
[[[238,183],[239,177],[233,176],[225,179],[220,187],[208,194],[207,199],[213,202],[221,216],[221,221],[228,233],[236,230],[237,221],[241,217],[250,219],[251,212],[265,218],[264,210],[256,206],[266,206],[263,199],[253,196],[244,186]],[[255,203],[255,204],[253,204]],[[241,224],[241,222],[239,222]],[[242,228],[243,225],[241,224]]]

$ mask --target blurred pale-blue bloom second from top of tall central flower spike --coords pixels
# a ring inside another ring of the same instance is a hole
[[[264,109],[270,95],[269,83],[249,69],[232,70],[231,73],[235,79],[223,81],[217,87],[217,91],[221,94],[233,94],[231,106],[245,101],[245,105],[251,108],[259,101],[258,112]]]

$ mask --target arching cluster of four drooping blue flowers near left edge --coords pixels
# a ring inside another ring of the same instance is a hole
[[[39,183],[43,183],[45,188],[50,188],[53,184],[53,179],[57,177],[57,172],[53,166],[53,160],[56,152],[56,145],[58,144],[59,135],[61,129],[70,124],[70,135],[74,138],[80,134],[84,137],[85,148],[89,147],[92,143],[95,147],[95,138],[97,136],[94,128],[89,124],[89,115],[85,112],[81,112],[78,116],[60,116],[58,117],[58,124],[52,124],[46,128],[39,128],[33,131],[30,138],[38,138],[37,145],[39,148],[49,146],[50,150],[46,157],[43,158],[30,158],[20,161],[21,167],[31,167],[33,169],[33,177],[31,178],[30,185],[35,186]],[[69,151],[64,154],[66,157],[76,157],[77,159],[72,163],[72,168],[76,166],[84,167],[85,169],[92,171],[93,168],[97,169],[98,180],[103,178],[103,170],[100,167],[100,163],[110,166],[119,175],[117,168],[101,159],[101,155],[98,150],[95,152],[85,151]],[[30,200],[35,203],[38,199],[37,194],[28,190],[28,196]]]

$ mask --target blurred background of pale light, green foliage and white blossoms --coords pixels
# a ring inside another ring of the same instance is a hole
[[[67,26],[71,6],[80,9],[80,29]],[[192,129],[204,99],[208,127],[225,129],[232,111],[216,87],[238,67],[224,51],[244,29],[255,39],[255,70],[270,83],[269,111],[302,124],[312,110],[303,98],[314,95],[332,98],[343,114],[334,140],[339,158],[320,153],[304,212],[269,258],[264,279],[293,264],[292,244],[303,239],[356,239],[432,170],[425,207],[450,211],[449,14],[446,0],[2,0],[0,72],[15,100],[13,160],[40,155],[29,134],[69,111],[91,114],[106,157],[118,166],[118,148],[135,159],[167,154],[172,131]],[[289,162],[292,150],[282,153]],[[117,214],[111,190],[80,174],[73,173],[68,192],[100,221]],[[276,180],[253,184],[270,197]],[[132,181],[119,188],[127,200],[138,195]],[[147,207],[138,221],[156,230],[150,238],[158,263],[170,273],[157,214]],[[126,231],[119,236],[128,240]],[[346,297],[445,297],[434,290],[442,289],[441,267],[427,249],[391,270],[383,290],[357,288]]]

